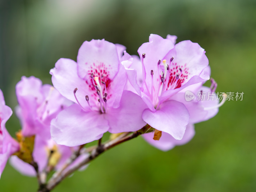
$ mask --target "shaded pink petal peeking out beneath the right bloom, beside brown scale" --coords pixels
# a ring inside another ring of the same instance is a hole
[[[195,129],[193,124],[188,124],[186,127],[186,131],[181,140],[174,139],[170,134],[166,132],[162,132],[162,136],[160,140],[153,140],[154,132],[143,134],[142,137],[148,141],[149,144],[154,147],[162,150],[168,151],[174,148],[176,145],[184,145],[188,143],[195,135]]]

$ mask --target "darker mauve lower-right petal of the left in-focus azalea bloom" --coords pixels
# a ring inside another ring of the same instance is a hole
[[[142,112],[147,108],[141,97],[133,92],[124,91],[119,108],[107,111],[109,132],[120,133],[137,131],[146,123],[142,119]]]

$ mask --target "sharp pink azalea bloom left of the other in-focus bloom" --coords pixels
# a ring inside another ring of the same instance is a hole
[[[107,131],[137,131],[146,124],[141,114],[147,106],[137,94],[124,91],[127,75],[123,65],[132,62],[124,49],[104,39],[85,41],[77,62],[64,58],[56,62],[50,71],[52,83],[76,103],[52,120],[56,143],[81,145],[100,139]]]

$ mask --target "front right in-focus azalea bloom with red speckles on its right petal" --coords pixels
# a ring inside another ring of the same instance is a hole
[[[130,83],[148,105],[142,114],[143,120],[181,140],[189,122],[189,112],[183,103],[170,100],[170,97],[189,85],[206,81],[209,75],[203,72],[208,66],[204,49],[191,41],[174,45],[175,41],[176,36],[164,39],[151,34],[149,42],[138,50],[142,63],[140,92],[136,83]]]

